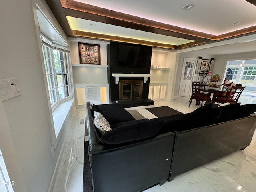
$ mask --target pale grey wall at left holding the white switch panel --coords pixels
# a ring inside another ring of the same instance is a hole
[[[6,0],[0,6],[0,78],[19,78],[21,89],[20,96],[0,105],[0,148],[10,179],[15,182],[15,192],[48,190],[66,134],[64,130],[52,158],[50,112],[33,13],[35,2],[66,38],[43,0]]]

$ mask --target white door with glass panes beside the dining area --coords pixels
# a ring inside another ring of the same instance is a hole
[[[180,80],[180,91],[179,96],[190,96],[191,87],[192,87],[192,79],[194,76],[194,71],[196,68],[197,59],[194,58],[184,58],[182,74]]]

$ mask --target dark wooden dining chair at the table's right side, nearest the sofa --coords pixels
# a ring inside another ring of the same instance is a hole
[[[212,102],[236,104],[245,87],[232,87],[225,95],[212,98]]]

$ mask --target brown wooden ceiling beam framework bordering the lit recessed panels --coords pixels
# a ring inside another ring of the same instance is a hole
[[[246,36],[248,34],[256,34],[256,26],[249,28],[237,30],[234,32],[222,34],[219,36],[214,36],[211,34],[206,34],[202,32],[197,32],[194,30],[188,30],[186,28],[180,28],[177,26],[172,26],[160,22],[155,22],[152,20],[123,14],[120,12],[92,6],[89,4],[84,4],[74,0],[45,0],[55,18],[58,20],[60,26],[64,30],[68,37],[78,37],[80,34],[82,38],[101,38],[113,41],[122,42],[133,42],[137,44],[150,44],[156,47],[165,47],[174,50],[188,48],[201,44],[209,44],[212,42],[218,42],[226,39],[237,38],[241,36]],[[256,0],[247,0],[252,4],[256,4]],[[126,28],[131,28],[135,30],[141,30],[145,32],[151,32],[155,34],[162,34],[166,36],[194,40],[194,42],[188,44],[182,44],[180,46],[167,45],[156,42],[147,42],[143,40],[136,40],[130,38],[114,37],[103,34],[92,34],[88,32],[78,32],[70,29],[68,20],[66,16],[72,16],[76,18],[82,18],[86,20],[92,20],[95,22],[102,22],[106,24],[111,24],[115,26],[121,26]]]

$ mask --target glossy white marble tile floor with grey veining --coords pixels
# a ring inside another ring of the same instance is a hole
[[[249,93],[250,94],[250,93]],[[244,93],[239,102],[255,104],[256,98]],[[174,98],[173,102],[157,101],[155,106],[170,106],[182,113],[192,112],[199,106],[189,97]],[[142,111],[143,109],[138,111]],[[85,109],[76,109],[70,133],[58,170],[53,192],[82,192]],[[250,146],[177,176],[164,185],[156,185],[145,192],[255,192],[256,191],[256,132]]]

